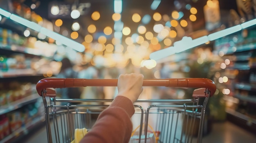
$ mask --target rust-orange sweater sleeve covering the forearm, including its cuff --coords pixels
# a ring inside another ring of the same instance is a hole
[[[127,97],[117,96],[101,114],[80,143],[128,143],[132,133],[130,118],[135,109]]]

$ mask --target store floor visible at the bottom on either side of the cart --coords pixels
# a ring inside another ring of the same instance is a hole
[[[23,143],[47,143],[46,128],[38,128]],[[229,121],[214,123],[213,129],[202,139],[203,143],[256,143],[256,134],[230,123]]]

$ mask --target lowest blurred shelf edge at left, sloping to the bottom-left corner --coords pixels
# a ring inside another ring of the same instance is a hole
[[[22,125],[21,128],[19,128],[15,132],[9,134],[4,139],[2,139],[0,141],[0,143],[8,143],[13,139],[16,139],[18,137],[22,137],[22,135],[27,134],[29,132],[29,130],[32,130],[33,128],[36,128],[37,125],[40,125],[40,124],[44,123],[42,119],[43,119],[43,117],[40,117],[40,116],[33,118],[32,121],[30,121],[29,123],[27,123],[25,125]]]

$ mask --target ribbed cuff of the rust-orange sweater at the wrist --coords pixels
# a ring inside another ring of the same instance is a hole
[[[117,96],[110,104],[110,107],[120,107],[126,110],[128,115],[132,117],[132,115],[135,113],[135,109],[133,106],[133,103],[130,99],[124,96]]]

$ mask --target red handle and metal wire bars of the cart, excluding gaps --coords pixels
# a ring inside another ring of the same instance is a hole
[[[108,105],[71,105],[70,103],[74,102],[111,102],[113,99],[57,99],[55,90],[51,88],[70,88],[70,87],[85,87],[85,86],[117,86],[117,79],[69,79],[69,78],[46,78],[38,81],[36,85],[37,92],[43,98],[43,103],[45,106],[45,119],[46,119],[46,128],[47,128],[47,140],[49,143],[52,143],[52,133],[50,127],[50,114],[58,114],[59,111],[56,111],[58,108],[67,108],[67,122],[70,129],[70,140],[72,141],[72,132],[70,125],[70,108],[77,107],[107,107]],[[144,125],[144,136],[147,137],[148,131],[148,117],[150,110],[153,108],[184,108],[184,120],[185,115],[189,112],[193,113],[194,117],[200,117],[199,123],[199,132],[198,132],[198,143],[202,142],[202,129],[204,124],[204,115],[206,110],[206,105],[209,97],[211,97],[215,90],[216,85],[213,81],[206,78],[183,78],[183,79],[144,79],[143,86],[166,86],[166,87],[184,87],[184,88],[199,88],[194,90],[193,99],[148,99],[148,100],[137,100],[136,102],[149,102],[149,103],[183,103],[183,105],[150,105],[148,106],[145,113],[145,125]],[[50,98],[50,103],[48,105],[46,97]],[[199,98],[204,97],[204,103],[198,105]],[[70,102],[65,106],[56,105],[56,102]],[[193,102],[193,105],[186,105],[187,102]],[[141,142],[141,135],[143,130],[143,119],[144,119],[144,109],[135,105],[135,107],[141,110],[141,119],[140,119],[140,128],[139,128],[139,143]],[[186,108],[193,108],[192,111],[186,110]],[[201,112],[197,112],[194,108],[202,108]],[[50,110],[50,112],[49,112]],[[54,116],[53,116],[54,117]],[[191,125],[190,125],[191,126]],[[175,127],[177,128],[177,126]],[[190,127],[189,127],[190,128]],[[58,129],[57,129],[58,130]],[[190,129],[189,129],[190,130]],[[180,137],[180,143],[182,143],[184,128],[182,128],[182,133]],[[190,132],[190,131],[189,131]],[[55,135],[57,135],[55,130]],[[58,135],[57,135],[58,136]],[[57,137],[56,136],[56,137]],[[59,138],[59,136],[58,136]],[[189,141],[189,139],[185,139]],[[192,141],[192,138],[191,138]],[[146,143],[146,139],[145,139]]]

